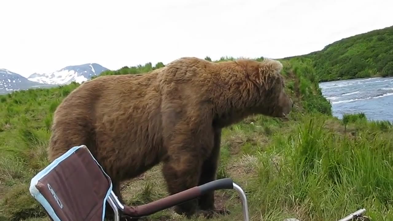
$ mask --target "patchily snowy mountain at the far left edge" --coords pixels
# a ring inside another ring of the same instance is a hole
[[[6,94],[14,90],[26,90],[29,88],[46,88],[54,85],[41,84],[29,81],[17,73],[7,69],[0,69],[0,94]]]

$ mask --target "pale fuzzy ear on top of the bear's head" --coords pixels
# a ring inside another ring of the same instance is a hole
[[[259,83],[264,85],[266,90],[277,88],[278,85],[283,84],[283,77],[280,74],[281,70],[283,70],[281,62],[272,59],[263,60],[258,70]]]

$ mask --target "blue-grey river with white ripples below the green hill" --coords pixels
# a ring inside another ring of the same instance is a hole
[[[344,113],[364,112],[369,120],[393,122],[393,77],[321,82],[320,88],[340,119]]]

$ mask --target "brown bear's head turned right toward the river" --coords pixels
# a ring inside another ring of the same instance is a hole
[[[279,61],[265,59],[259,62],[257,70],[250,76],[256,83],[259,94],[254,107],[256,113],[287,118],[291,112],[293,101],[285,92],[284,77],[280,74],[282,68],[283,65]]]

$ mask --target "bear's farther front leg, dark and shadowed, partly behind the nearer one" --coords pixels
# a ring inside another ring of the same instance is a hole
[[[220,143],[221,129],[215,129],[213,138],[213,149],[210,156],[203,162],[198,185],[202,185],[216,179],[218,160],[220,156]],[[225,208],[217,209],[215,207],[214,191],[202,195],[198,200],[198,206],[200,210],[204,210],[203,213],[207,218],[210,218],[215,213],[222,215],[230,214],[230,211],[226,210]]]

